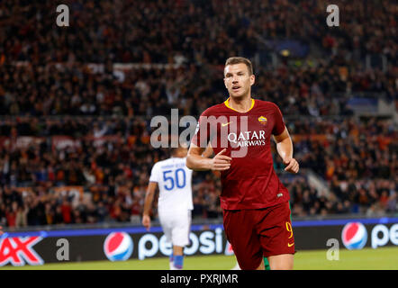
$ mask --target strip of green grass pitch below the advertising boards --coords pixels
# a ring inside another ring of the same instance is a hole
[[[230,270],[235,266],[233,256],[185,257],[186,270]],[[168,258],[151,258],[123,262],[96,261],[80,263],[46,264],[44,266],[4,266],[4,269],[44,270],[167,270]],[[298,251],[294,256],[297,270],[398,270],[398,247],[339,251],[339,260],[326,258],[326,250]]]

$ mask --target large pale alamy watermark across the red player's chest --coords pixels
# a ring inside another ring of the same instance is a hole
[[[249,129],[250,122],[250,129]],[[265,116],[193,116],[178,118],[178,109],[171,109],[170,121],[165,116],[155,116],[150,127],[153,148],[177,148],[192,141],[200,148],[209,143],[213,148],[231,148],[231,157],[245,157],[249,147],[266,146],[267,118]],[[184,130],[179,133],[180,128]]]

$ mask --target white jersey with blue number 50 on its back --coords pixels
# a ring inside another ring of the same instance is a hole
[[[152,167],[149,182],[157,182],[159,211],[194,210],[192,170],[185,166],[186,157],[171,157]]]

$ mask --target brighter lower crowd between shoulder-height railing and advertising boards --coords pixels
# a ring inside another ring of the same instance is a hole
[[[4,224],[140,217],[151,166],[168,157],[167,148],[151,148],[145,118],[90,119],[0,122],[2,135],[7,136],[0,149]],[[276,171],[292,195],[294,215],[397,211],[397,131],[391,120],[286,122],[302,169],[316,171],[329,190],[329,194],[317,191],[305,173],[284,178],[281,160],[275,157]],[[57,142],[59,135],[67,142]],[[57,189],[63,186],[81,186],[82,191]],[[194,217],[220,217],[220,192],[215,175],[195,174]],[[152,212],[156,217],[156,206]]]

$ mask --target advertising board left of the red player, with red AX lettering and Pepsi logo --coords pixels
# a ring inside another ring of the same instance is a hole
[[[0,238],[0,266],[59,263],[59,238],[68,241],[70,262],[143,260],[171,253],[171,244],[166,242],[160,227],[153,227],[149,232],[143,228],[18,232],[5,233]],[[222,225],[194,225],[190,240],[184,251],[187,256],[233,254]]]

